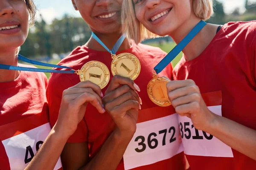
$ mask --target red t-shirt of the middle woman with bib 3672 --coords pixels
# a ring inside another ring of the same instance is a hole
[[[139,95],[143,101],[142,110],[139,111],[138,123],[171,115],[173,112],[169,111],[168,108],[161,108],[155,105],[148,98],[147,94],[147,84],[152,79],[152,70],[154,66],[160,62],[163,57],[166,56],[166,53],[161,51],[160,48],[142,44],[133,44],[129,49],[117,52],[117,54],[120,53],[134,54],[138,57],[141,63],[140,75],[134,81],[137,85],[140,86],[141,92],[139,92]],[[74,51],[71,52],[69,56],[61,60],[61,62],[58,64],[78,70],[81,69],[85,63],[92,60],[103,62],[111,71],[111,54],[105,51],[94,51],[87,48],[86,46],[77,47]],[[169,65],[162,72],[162,75],[171,77],[171,74],[172,66]],[[111,74],[111,79],[112,78],[113,76]],[[62,92],[79,82],[79,76],[76,74],[51,75],[49,79],[49,85],[47,87],[47,100],[49,102],[49,115],[50,123],[52,126],[55,124],[58,118]],[[107,88],[108,86],[102,89],[103,94]],[[84,119],[79,123],[76,132],[73,134],[73,136],[70,137],[68,142],[88,142],[90,148],[90,157],[92,158],[98,153],[99,149],[102,147],[102,144],[104,144],[106,139],[108,139],[108,136],[113,132],[114,128],[115,123],[108,113],[100,114],[92,105],[88,105]],[[178,130],[176,132],[178,132]],[[145,141],[147,141],[147,139]],[[138,145],[139,142],[140,140],[137,142],[137,147],[141,147]],[[162,141],[159,141],[159,143],[160,142],[162,143]],[[154,145],[154,142],[152,145]],[[151,154],[151,157],[154,157],[154,155]],[[157,161],[157,163],[139,167],[138,169],[148,170],[157,168],[183,170],[183,152],[176,154],[172,158]],[[124,169],[123,160],[120,162],[117,169]]]

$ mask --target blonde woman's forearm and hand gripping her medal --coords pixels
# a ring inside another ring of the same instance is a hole
[[[212,134],[233,149],[256,160],[256,130],[209,111],[193,80],[169,82],[167,92],[175,111],[180,116],[188,116],[196,129]]]

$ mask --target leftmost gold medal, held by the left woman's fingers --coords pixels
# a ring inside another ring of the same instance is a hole
[[[81,70],[76,71],[76,74],[79,75],[81,82],[93,82],[101,89],[106,87],[110,79],[108,67],[99,61],[87,62]]]

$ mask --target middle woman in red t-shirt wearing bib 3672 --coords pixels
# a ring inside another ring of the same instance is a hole
[[[122,35],[122,0],[72,0],[72,3],[91,31],[111,49]],[[146,91],[148,81],[152,78],[154,63],[159,62],[166,53],[159,48],[137,45],[127,38],[122,42],[117,55],[121,53],[134,54],[140,60],[140,75],[134,81],[141,89],[139,94],[143,102],[138,116],[134,116],[132,103],[142,102],[134,89],[131,89],[134,82],[125,77],[113,77],[110,72],[111,82],[102,89],[105,94],[103,103],[108,113],[99,114],[94,107],[88,105],[78,129],[64,147],[61,155],[63,167],[97,170],[183,170],[177,114],[172,114],[168,108],[154,105]],[[85,45],[74,49],[59,65],[79,70],[87,62],[99,61],[110,71],[112,60],[111,54],[91,37]],[[169,65],[163,73],[171,77],[172,66]],[[52,125],[58,118],[62,92],[78,82],[80,79],[76,74],[51,75],[47,99]],[[120,85],[122,86],[119,87]],[[151,128],[145,129],[145,125],[150,125]],[[170,128],[176,128],[176,133],[175,130],[169,131]],[[170,142],[171,138],[173,140]]]

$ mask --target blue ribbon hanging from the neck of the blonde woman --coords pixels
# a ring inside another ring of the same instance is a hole
[[[183,40],[180,41],[179,44],[175,46],[175,48],[170,51],[166,57],[164,57],[155,67],[154,70],[157,74],[159,74],[161,71],[163,71],[164,68],[166,68],[167,65],[169,65],[170,62],[172,62],[173,59],[182,51],[186,45],[201,31],[202,28],[207,23],[201,20],[190,32],[186,35]]]

